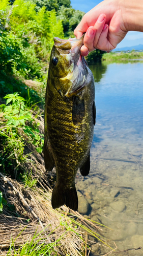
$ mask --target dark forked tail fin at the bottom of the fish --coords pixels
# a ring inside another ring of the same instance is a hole
[[[75,185],[66,191],[55,185],[52,191],[51,204],[54,209],[66,204],[70,209],[76,211],[78,209],[78,197]]]

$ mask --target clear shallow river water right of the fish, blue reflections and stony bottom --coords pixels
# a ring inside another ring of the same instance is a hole
[[[103,62],[90,69],[97,118],[90,174],[78,173],[76,180],[89,203],[83,216],[111,228],[102,227],[101,239],[117,251],[142,247],[117,255],[143,255],[143,62]],[[111,250],[100,244],[90,256]]]

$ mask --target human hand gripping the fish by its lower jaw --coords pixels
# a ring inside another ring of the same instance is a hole
[[[89,51],[100,49],[110,51],[115,49],[125,37],[128,29],[125,26],[124,6],[118,0],[105,0],[86,13],[74,30],[77,38],[83,33],[84,42],[81,55],[87,56]]]

